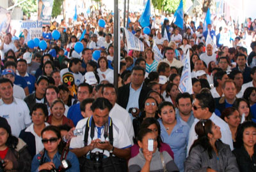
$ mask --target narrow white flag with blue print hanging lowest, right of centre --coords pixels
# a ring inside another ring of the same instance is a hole
[[[189,51],[186,55],[186,59],[184,59],[183,64],[184,64],[184,68],[180,78],[179,90],[182,93],[188,92],[189,94],[193,94]]]

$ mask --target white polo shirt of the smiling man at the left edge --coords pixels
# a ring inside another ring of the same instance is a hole
[[[20,131],[31,124],[29,108],[27,104],[16,97],[13,97],[11,104],[5,104],[0,99],[0,117],[6,118],[12,128],[13,136],[19,137]]]

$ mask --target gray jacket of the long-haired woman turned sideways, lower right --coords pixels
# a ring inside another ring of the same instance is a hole
[[[200,145],[193,147],[189,157],[184,162],[185,172],[204,172],[207,168],[218,172],[239,172],[236,157],[232,154],[230,147],[221,141],[216,141],[218,157],[212,151],[212,159],[209,159],[207,151]]]

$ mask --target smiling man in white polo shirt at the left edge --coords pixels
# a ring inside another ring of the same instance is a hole
[[[12,127],[13,136],[19,137],[20,131],[31,124],[27,104],[13,97],[13,83],[7,78],[0,79],[0,117],[6,118]]]

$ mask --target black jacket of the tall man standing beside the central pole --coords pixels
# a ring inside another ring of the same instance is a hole
[[[124,85],[118,89],[118,104],[125,109],[127,107],[128,101],[129,101],[130,85],[131,85],[131,83],[127,83],[126,85]],[[150,92],[150,90],[151,89],[143,83],[141,92],[140,92],[140,97],[139,97],[140,110],[142,110],[143,102],[144,102],[145,98],[147,97],[148,92]]]

